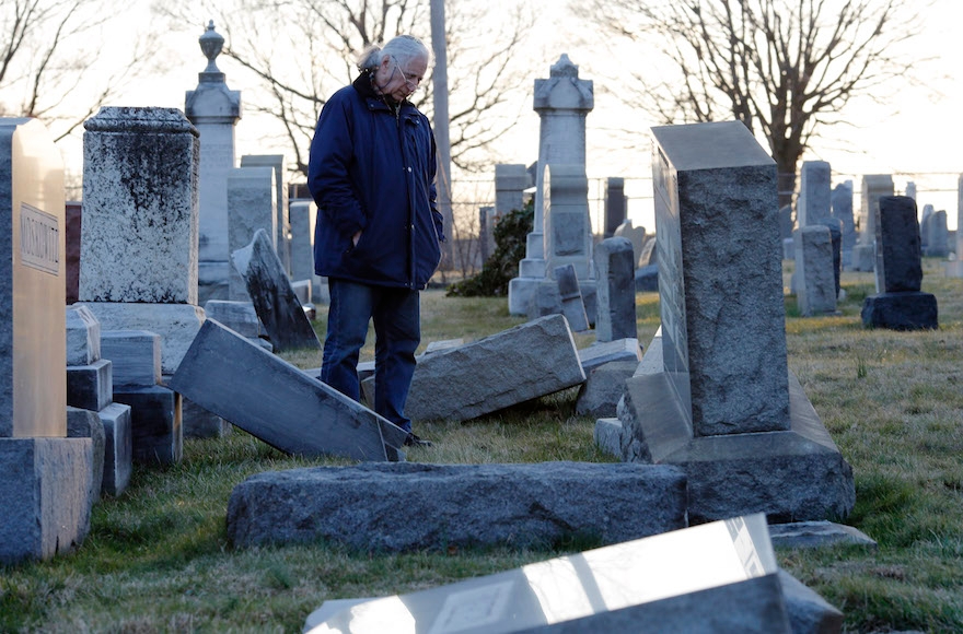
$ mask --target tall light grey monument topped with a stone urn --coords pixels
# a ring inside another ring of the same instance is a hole
[[[187,91],[184,113],[200,138],[199,301],[227,300],[231,274],[228,248],[228,175],[235,167],[234,127],[241,119],[241,93],[228,89],[214,60],[224,38],[211,21],[199,38],[207,68]]]

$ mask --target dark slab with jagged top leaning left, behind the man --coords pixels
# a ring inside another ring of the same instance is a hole
[[[257,230],[251,244],[235,250],[231,258],[247,284],[247,294],[275,350],[320,349],[317,334],[271,248],[267,232]]]

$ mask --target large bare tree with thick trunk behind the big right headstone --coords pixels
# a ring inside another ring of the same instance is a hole
[[[592,0],[592,20],[634,57],[623,95],[664,124],[735,118],[769,143],[781,191],[817,131],[856,97],[880,97],[920,60],[901,48],[921,9],[901,0]],[[584,11],[584,9],[580,9]],[[633,90],[631,86],[640,90]],[[782,202],[787,202],[782,197]]]

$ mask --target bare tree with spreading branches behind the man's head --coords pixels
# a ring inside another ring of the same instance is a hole
[[[301,174],[327,96],[357,74],[353,56],[399,33],[430,39],[429,0],[163,1],[154,9],[182,26],[213,17],[225,38],[222,55],[264,89],[245,95],[245,108],[277,121],[275,141],[290,149],[292,169]],[[532,22],[522,9],[491,22],[486,10],[459,0],[448,11],[452,161],[466,171],[479,169],[488,144],[517,120],[510,102],[523,86],[512,52]],[[479,30],[483,21],[491,28]],[[413,98],[431,117],[430,79],[421,85]]]

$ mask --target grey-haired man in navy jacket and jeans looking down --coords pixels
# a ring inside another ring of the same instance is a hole
[[[358,400],[358,354],[374,320],[374,410],[411,432],[405,401],[421,340],[419,291],[441,259],[434,134],[408,97],[429,52],[401,35],[359,59],[360,74],[321,111],[308,167],[317,203],[314,268],[330,306],[321,380]]]

